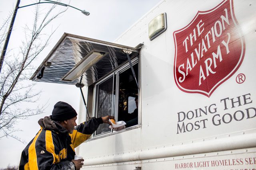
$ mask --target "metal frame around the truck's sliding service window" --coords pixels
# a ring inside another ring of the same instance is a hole
[[[138,77],[137,77],[137,81],[138,84],[140,84],[140,60],[139,57],[135,57],[134,59],[131,60],[132,66],[134,66],[135,64],[138,64]],[[108,75],[106,75],[104,78],[102,78],[101,80],[99,80],[98,82],[96,82],[94,84],[93,87],[93,107],[92,107],[92,115],[94,117],[96,117],[96,113],[98,111],[98,87],[99,85],[106,81],[109,78],[113,78],[113,90],[112,90],[112,115],[115,116],[115,119],[118,119],[118,113],[116,113],[116,110],[118,111],[118,100],[119,100],[119,74],[121,74],[122,72],[128,70],[130,68],[130,64],[129,62],[125,63],[123,66],[120,66],[120,68],[114,70],[113,72],[110,72]],[[114,94],[114,81],[115,81],[115,77],[116,77],[116,89],[115,89],[115,94]],[[118,82],[118,83],[117,83]],[[125,129],[122,129],[121,131],[115,131],[113,132],[113,130],[111,130],[110,132],[106,132],[106,133],[102,133],[102,134],[98,134],[96,135],[95,133],[92,134],[92,138],[88,139],[87,141],[91,141],[94,139],[98,139],[98,138],[102,138],[102,137],[106,137],[106,136],[110,136],[110,135],[114,135],[117,133],[122,133],[124,131],[129,131],[131,129],[136,129],[138,127],[141,127],[141,109],[140,109],[140,96],[141,96],[141,92],[140,89],[138,90],[138,125],[134,125],[132,127],[128,127]]]

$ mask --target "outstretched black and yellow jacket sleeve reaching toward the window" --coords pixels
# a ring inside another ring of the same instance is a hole
[[[102,124],[102,118],[92,117],[90,121],[86,121],[77,125],[72,134],[69,134],[71,137],[72,145],[74,148],[78,147],[81,143],[86,141],[92,133],[94,133],[100,124]]]

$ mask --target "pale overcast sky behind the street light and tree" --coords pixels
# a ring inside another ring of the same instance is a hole
[[[62,16],[54,20],[54,24],[48,28],[49,32],[52,28],[58,27],[58,29],[52,36],[50,45],[42,51],[36,63],[36,67],[42,63],[43,59],[48,55],[64,32],[113,42],[120,34],[126,31],[160,1],[161,0],[62,0],[62,3],[70,3],[71,6],[90,12],[90,16],[85,16],[77,10],[68,8]],[[8,16],[9,12],[12,12],[13,8],[16,6],[16,2],[16,0],[0,0],[0,23]],[[36,2],[36,0],[21,0],[20,6],[34,2]],[[50,4],[41,4],[42,8],[49,5]],[[26,23],[30,23],[33,20],[33,11],[34,6],[20,8],[18,10],[8,46],[9,49],[18,49],[18,45],[20,45],[24,35],[22,28]],[[40,103],[44,104],[48,101],[49,106],[44,114],[18,122],[17,127],[22,131],[17,132],[15,135],[24,139],[27,143],[40,129],[37,123],[38,119],[50,115],[56,102],[67,102],[72,105],[77,112],[79,108],[80,90],[75,86],[37,83],[36,89],[43,90]],[[26,145],[12,138],[4,138],[0,139],[0,147],[0,168],[5,168],[8,164],[19,164],[20,154]]]

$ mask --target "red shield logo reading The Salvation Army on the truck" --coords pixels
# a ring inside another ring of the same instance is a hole
[[[210,97],[240,67],[245,43],[233,8],[224,0],[174,31],[174,78],[183,92]]]

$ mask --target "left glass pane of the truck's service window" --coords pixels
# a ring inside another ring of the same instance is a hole
[[[107,79],[98,85],[98,102],[96,117],[112,115],[112,98],[113,98],[113,77]],[[107,123],[101,124],[96,130],[96,135],[109,133],[111,129]]]

